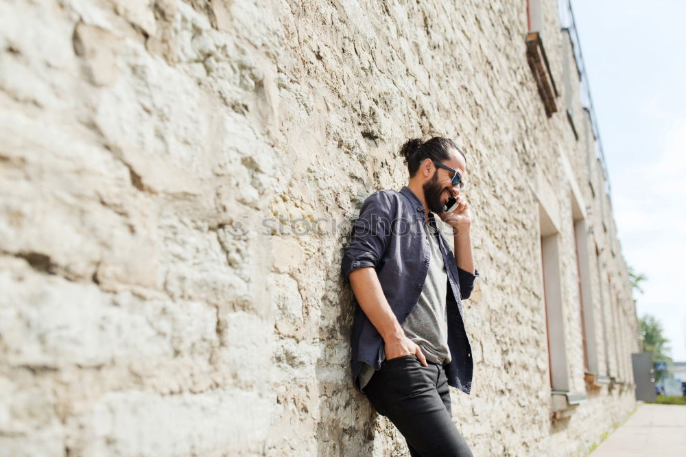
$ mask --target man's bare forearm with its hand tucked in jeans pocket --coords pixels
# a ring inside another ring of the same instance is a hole
[[[359,307],[383,338],[386,360],[416,355],[423,366],[429,366],[421,349],[405,336],[398,319],[393,314],[381,289],[379,277],[374,268],[358,268],[348,276]]]

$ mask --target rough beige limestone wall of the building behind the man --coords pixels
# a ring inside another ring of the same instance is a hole
[[[544,7],[562,88],[568,38]],[[545,116],[525,33],[521,1],[1,0],[0,455],[405,454],[353,390],[340,259],[420,134],[469,156],[482,277],[456,423],[479,456],[589,449],[633,408],[635,311],[588,115],[572,84],[580,139]],[[602,250],[598,371],[624,383],[566,419],[536,176],[560,220],[570,389],[570,189]]]

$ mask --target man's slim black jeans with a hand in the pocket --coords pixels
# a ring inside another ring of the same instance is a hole
[[[411,456],[472,456],[453,423],[448,379],[440,365],[422,366],[414,355],[386,360],[364,393],[403,434]]]

